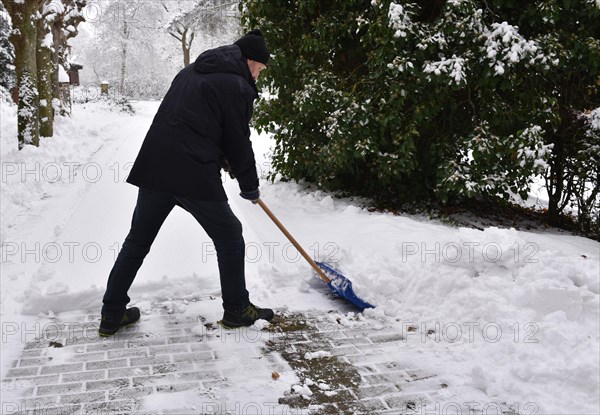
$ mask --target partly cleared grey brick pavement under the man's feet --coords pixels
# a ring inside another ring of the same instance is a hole
[[[3,391],[20,396],[3,399],[2,414],[153,413],[142,409],[150,395],[190,391],[214,402],[214,392],[243,382],[255,369],[293,372],[299,383],[277,407],[190,409],[174,399],[164,412],[431,415],[435,402],[451,395],[435,373],[394,359],[405,344],[398,333],[367,323],[347,326],[327,314],[288,313],[263,329],[259,347],[256,331],[224,331],[202,316],[169,314],[159,303],[142,318],[150,321],[150,332],[133,326],[106,339],[98,337],[99,315],[93,313],[69,317],[78,323],[58,318],[45,325],[43,338],[26,343],[2,379]],[[242,353],[262,355],[244,368],[229,364],[221,352],[226,339]]]

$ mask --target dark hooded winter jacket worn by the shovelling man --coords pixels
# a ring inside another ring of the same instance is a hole
[[[225,201],[220,170],[227,160],[240,189],[256,190],[248,123],[257,97],[238,46],[202,53],[171,83],[127,181],[175,196]]]

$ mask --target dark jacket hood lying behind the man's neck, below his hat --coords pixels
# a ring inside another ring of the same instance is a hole
[[[194,62],[194,69],[200,73],[232,73],[244,78],[258,93],[246,58],[237,45],[221,46],[204,51]]]

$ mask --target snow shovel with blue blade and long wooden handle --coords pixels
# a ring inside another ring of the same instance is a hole
[[[352,304],[354,304],[361,310],[364,310],[365,308],[375,308],[375,306],[367,303],[366,301],[361,300],[356,296],[356,294],[354,294],[354,291],[352,290],[352,282],[348,278],[344,277],[340,272],[336,271],[327,264],[313,261],[313,259],[306,253],[304,249],[302,249],[300,244],[294,239],[292,234],[290,234],[285,228],[285,226],[283,226],[283,224],[279,221],[279,219],[275,217],[275,215],[267,207],[265,202],[263,202],[261,199],[257,199],[256,203],[259,204],[259,206],[271,218],[275,225],[277,225],[281,232],[283,232],[283,234],[288,238],[288,240],[296,247],[298,252],[300,252],[304,257],[304,259],[308,261],[310,266],[313,267],[313,269],[317,272],[317,275],[327,283],[327,286],[335,295],[350,301]]]

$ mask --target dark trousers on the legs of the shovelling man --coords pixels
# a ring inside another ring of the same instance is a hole
[[[119,320],[130,298],[129,287],[150,251],[160,227],[176,205],[194,216],[213,240],[217,252],[223,308],[239,311],[249,303],[244,276],[245,244],[242,225],[227,202],[209,202],[173,196],[168,193],[139,190],[131,220],[117,260],[108,277],[102,300],[102,315]]]

